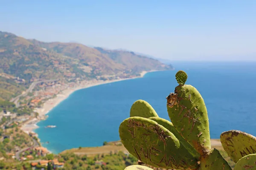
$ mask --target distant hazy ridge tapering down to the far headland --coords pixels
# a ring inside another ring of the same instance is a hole
[[[30,40],[42,48],[55,51],[68,57],[79,59],[84,65],[93,68],[98,74],[119,74],[120,72],[131,75],[140,71],[171,69],[156,59],[137,55],[129,51],[106,50],[103,48],[90,48],[79,43],[40,42]]]

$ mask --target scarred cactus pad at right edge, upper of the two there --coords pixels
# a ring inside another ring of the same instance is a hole
[[[239,130],[221,133],[221,144],[235,163],[246,155],[256,153],[256,137]]]

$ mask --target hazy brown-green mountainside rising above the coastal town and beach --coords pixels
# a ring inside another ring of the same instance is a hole
[[[74,82],[133,77],[141,71],[169,69],[172,66],[134,52],[27,40],[0,31],[0,100],[21,94],[38,79]]]

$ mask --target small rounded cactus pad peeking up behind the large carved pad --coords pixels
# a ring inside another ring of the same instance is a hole
[[[157,112],[152,108],[152,106],[144,101],[137,100],[133,103],[130,110],[130,117],[139,116],[139,117],[158,117]]]

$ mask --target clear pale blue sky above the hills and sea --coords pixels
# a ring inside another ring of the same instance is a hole
[[[256,61],[256,0],[0,0],[0,31],[173,61]]]

